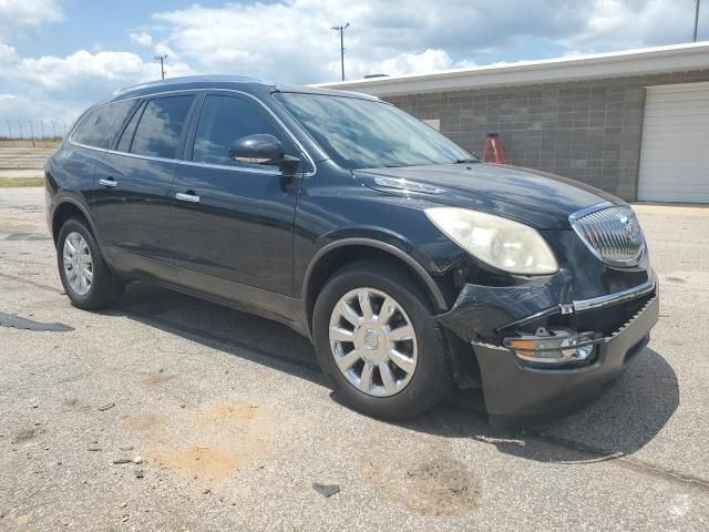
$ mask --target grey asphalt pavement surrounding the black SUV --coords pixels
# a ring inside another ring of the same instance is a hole
[[[306,339],[166,289],[73,308],[43,202],[0,196],[0,530],[709,530],[709,208],[635,207],[649,348],[583,410],[502,433],[474,398],[353,412]]]

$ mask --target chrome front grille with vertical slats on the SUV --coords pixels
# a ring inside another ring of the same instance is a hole
[[[636,266],[640,260],[645,237],[630,207],[595,205],[572,214],[568,221],[584,244],[604,263]]]

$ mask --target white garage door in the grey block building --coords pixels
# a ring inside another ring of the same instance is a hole
[[[709,203],[709,83],[647,89],[638,200]]]

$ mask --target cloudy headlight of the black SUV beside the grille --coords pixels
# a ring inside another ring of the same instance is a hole
[[[558,272],[548,244],[530,226],[466,208],[434,207],[425,214],[449,238],[495,268],[520,275]]]

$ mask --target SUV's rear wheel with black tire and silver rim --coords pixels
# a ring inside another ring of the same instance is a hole
[[[71,217],[62,225],[56,239],[56,262],[73,306],[96,310],[123,295],[125,283],[109,268],[84,219]]]

